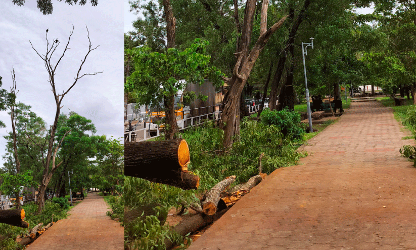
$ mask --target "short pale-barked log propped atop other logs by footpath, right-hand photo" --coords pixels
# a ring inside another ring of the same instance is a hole
[[[221,192],[230,184],[236,181],[236,176],[230,176],[218,182],[209,190],[207,198],[202,203],[202,210],[206,215],[214,215],[217,212],[217,205],[220,199]]]

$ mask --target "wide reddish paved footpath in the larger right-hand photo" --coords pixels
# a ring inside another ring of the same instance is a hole
[[[416,169],[391,108],[352,103],[188,250],[416,249]]]

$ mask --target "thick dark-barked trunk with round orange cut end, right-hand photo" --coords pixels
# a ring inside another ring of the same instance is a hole
[[[188,171],[190,161],[185,140],[126,142],[124,174],[181,189],[197,189],[199,177]]]

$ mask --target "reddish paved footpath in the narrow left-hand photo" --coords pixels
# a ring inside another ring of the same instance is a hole
[[[124,227],[111,220],[103,197],[88,193],[67,219],[59,220],[27,247],[27,250],[124,249]]]

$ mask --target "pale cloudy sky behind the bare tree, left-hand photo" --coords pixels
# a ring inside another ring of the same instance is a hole
[[[31,110],[48,125],[55,118],[56,104],[49,76],[43,61],[32,49],[44,54],[47,48],[46,29],[49,29],[50,46],[54,39],[60,45],[52,59],[55,65],[65,48],[72,25],[75,29],[65,56],[58,65],[55,81],[58,93],[66,91],[74,82],[81,60],[88,51],[87,29],[93,48],[81,69],[86,75],[64,97],[61,112],[69,110],[93,121],[97,135],[123,137],[123,60],[124,60],[124,1],[99,1],[97,7],[69,6],[53,1],[54,12],[44,16],[35,1],[15,6],[12,0],[3,0],[0,8],[0,76],[3,89],[12,86],[12,66],[16,71],[17,101],[32,106]],[[5,154],[5,139],[11,131],[11,121],[6,111],[0,120],[7,128],[0,129],[0,156]],[[0,157],[0,167],[3,159]]]

